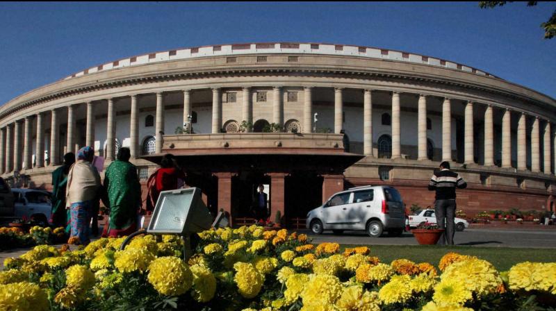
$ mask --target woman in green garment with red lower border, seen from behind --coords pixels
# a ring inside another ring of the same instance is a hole
[[[104,174],[104,189],[110,209],[108,237],[130,235],[137,230],[137,213],[141,206],[141,185],[137,168],[129,162],[129,148],[120,148],[114,162]]]

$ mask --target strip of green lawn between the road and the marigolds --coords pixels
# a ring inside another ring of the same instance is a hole
[[[342,244],[341,251],[361,245]],[[370,255],[377,256],[381,262],[405,258],[414,262],[430,262],[438,267],[440,258],[451,251],[463,255],[474,255],[494,264],[498,271],[507,271],[518,262],[556,262],[556,249],[511,249],[477,246],[391,246],[368,245]]]

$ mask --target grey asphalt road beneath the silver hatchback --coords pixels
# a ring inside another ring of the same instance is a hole
[[[369,237],[363,231],[346,231],[342,235],[332,232],[313,235],[309,230],[300,230],[313,239],[313,243],[337,242],[340,244],[364,245],[418,245],[411,233],[404,233],[401,237]],[[519,248],[555,248],[556,230],[507,230],[467,228],[463,232],[456,232],[454,241],[461,246],[489,246],[489,247],[519,247]]]

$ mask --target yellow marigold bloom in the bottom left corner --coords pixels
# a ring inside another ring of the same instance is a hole
[[[15,311],[49,310],[47,294],[39,285],[19,282],[0,285],[0,308]]]

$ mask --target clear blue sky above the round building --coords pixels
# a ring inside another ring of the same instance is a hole
[[[556,3],[0,3],[0,104],[85,68],[179,47],[326,42],[421,53],[556,98]]]

